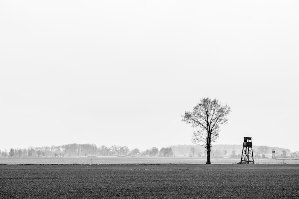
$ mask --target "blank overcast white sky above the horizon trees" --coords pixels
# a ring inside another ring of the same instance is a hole
[[[231,106],[216,144],[299,150],[298,1],[1,1],[0,149],[191,144],[203,97]]]

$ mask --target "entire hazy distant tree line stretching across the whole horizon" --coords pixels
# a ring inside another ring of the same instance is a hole
[[[254,158],[266,158],[266,155],[272,155],[272,150],[275,149],[277,158],[299,158],[299,151],[290,152],[289,149],[269,146],[253,146]],[[214,145],[211,149],[211,156],[214,158],[241,158],[242,145]],[[105,146],[97,147],[95,144],[66,144],[60,146],[42,146],[28,147],[24,149],[7,149],[1,151],[1,157],[79,157],[79,156],[119,156],[119,155],[152,155],[152,156],[189,156],[189,157],[205,157],[205,148],[194,145],[172,145],[170,147],[162,147],[160,150],[157,147],[152,147],[144,151],[129,149],[127,146]]]

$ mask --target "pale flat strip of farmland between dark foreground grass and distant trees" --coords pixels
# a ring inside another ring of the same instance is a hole
[[[232,164],[241,158],[211,158],[212,164]],[[206,158],[157,156],[14,157],[0,158],[0,164],[205,164]],[[256,164],[299,164],[299,159],[254,159]]]

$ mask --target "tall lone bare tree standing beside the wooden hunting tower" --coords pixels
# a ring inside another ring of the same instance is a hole
[[[182,121],[192,124],[196,130],[193,132],[192,142],[204,146],[207,151],[207,162],[210,164],[211,142],[219,137],[219,125],[227,124],[227,116],[231,112],[231,107],[222,105],[218,99],[202,98],[193,111],[185,111]]]

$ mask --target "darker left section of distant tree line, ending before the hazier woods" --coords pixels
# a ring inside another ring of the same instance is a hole
[[[95,144],[66,144],[60,146],[28,147],[23,149],[13,149],[9,151],[0,150],[1,157],[79,157],[79,156],[119,156],[119,155],[152,155],[152,156],[173,156],[171,147],[157,147],[140,151],[139,149],[129,149],[127,146],[113,145],[111,147],[102,145],[97,147]]]

